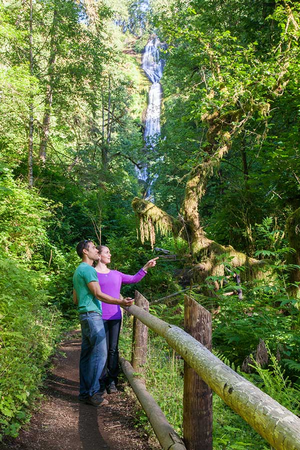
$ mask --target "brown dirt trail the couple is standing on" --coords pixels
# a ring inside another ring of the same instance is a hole
[[[99,408],[77,400],[80,339],[73,335],[60,350],[63,353],[53,360],[45,398],[28,430],[21,430],[9,443],[0,443],[0,450],[153,449],[133,427],[132,400],[124,392],[108,395],[109,404]]]

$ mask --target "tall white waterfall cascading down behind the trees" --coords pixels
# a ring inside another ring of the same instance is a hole
[[[160,104],[162,88],[159,83],[162,77],[164,60],[159,58],[159,49],[163,48],[158,38],[151,39],[144,48],[141,67],[152,83],[148,95],[148,107],[145,119],[144,141],[145,150],[154,148],[155,141],[160,135]],[[148,167],[138,170],[138,178],[145,185],[144,197],[150,196],[150,188],[153,179],[150,179]]]

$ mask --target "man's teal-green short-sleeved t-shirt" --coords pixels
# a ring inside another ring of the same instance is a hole
[[[73,286],[78,300],[77,309],[80,313],[96,311],[102,314],[101,302],[88,289],[87,284],[91,281],[98,283],[96,270],[86,262],[81,262],[73,275]]]

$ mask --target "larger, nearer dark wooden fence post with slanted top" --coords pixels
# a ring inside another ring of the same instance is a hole
[[[211,314],[184,295],[184,331],[211,350]],[[212,391],[184,362],[183,440],[187,450],[212,450]]]

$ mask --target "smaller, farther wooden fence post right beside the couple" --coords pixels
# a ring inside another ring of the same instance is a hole
[[[134,304],[149,311],[149,302],[138,291],[134,293]],[[133,317],[131,365],[135,372],[143,372],[146,362],[148,327]]]

